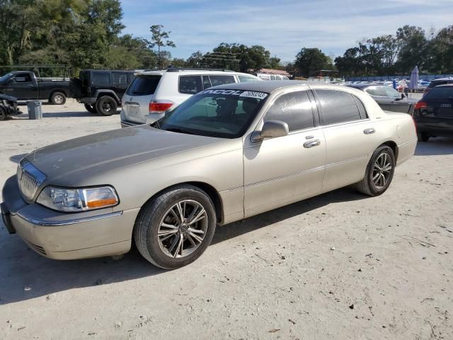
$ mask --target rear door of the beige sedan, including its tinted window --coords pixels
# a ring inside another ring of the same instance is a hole
[[[374,122],[357,96],[333,89],[316,89],[326,137],[326,174],[323,190],[363,179],[375,140]]]

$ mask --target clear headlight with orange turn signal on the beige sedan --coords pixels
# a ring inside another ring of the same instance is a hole
[[[79,212],[113,207],[119,200],[115,189],[110,186],[76,189],[47,186],[36,202],[53,210]]]

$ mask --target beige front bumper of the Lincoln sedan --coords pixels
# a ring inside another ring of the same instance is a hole
[[[25,203],[16,176],[2,191],[2,216],[8,232],[16,232],[31,249],[50,259],[84,259],[124,254],[130,250],[139,209],[64,213]],[[117,208],[117,207],[115,207]]]

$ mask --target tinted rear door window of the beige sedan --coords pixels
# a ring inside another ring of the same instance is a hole
[[[316,90],[316,94],[321,102],[324,125],[360,120],[352,94],[335,90]]]

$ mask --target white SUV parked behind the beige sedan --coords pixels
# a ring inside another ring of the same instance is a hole
[[[164,113],[212,86],[244,81],[260,79],[251,74],[222,69],[173,68],[137,73],[122,96],[121,126],[144,124],[149,113]]]

